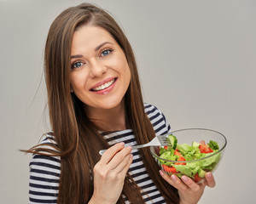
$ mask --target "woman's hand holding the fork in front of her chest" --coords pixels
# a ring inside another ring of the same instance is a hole
[[[89,203],[116,203],[131,162],[131,147],[125,147],[124,143],[106,150],[93,169],[94,192]]]

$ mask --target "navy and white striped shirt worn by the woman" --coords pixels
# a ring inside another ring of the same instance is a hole
[[[169,133],[171,127],[166,122],[166,117],[154,105],[145,104],[145,112],[154,127],[156,135]],[[104,139],[108,144],[116,144],[125,142],[127,145],[137,144],[135,136],[131,129],[126,129],[114,133],[104,135]],[[51,144],[49,135],[42,140],[41,144]],[[129,168],[129,173],[137,185],[142,189],[143,200],[145,203],[166,203],[160,191],[149,178],[144,167],[143,160],[138,150],[131,151],[133,161]],[[61,161],[55,156],[32,156],[30,163],[30,183],[29,183],[29,203],[57,203],[59,179],[61,173]],[[130,203],[126,201],[125,203]]]

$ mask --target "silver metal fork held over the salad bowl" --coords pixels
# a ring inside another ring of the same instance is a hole
[[[170,140],[168,139],[168,135],[171,135],[172,133],[166,133],[163,135],[159,135],[159,136],[155,136],[154,139],[152,139],[150,142],[148,142],[147,144],[140,144],[140,145],[134,145],[131,146],[132,150],[136,150],[139,148],[143,148],[143,147],[148,147],[148,146],[172,146]],[[100,150],[99,154],[102,156],[102,154],[105,152],[106,150]]]

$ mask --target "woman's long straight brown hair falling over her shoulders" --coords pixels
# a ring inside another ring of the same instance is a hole
[[[100,26],[108,31],[123,49],[131,70],[130,86],[125,94],[125,111],[138,144],[154,138],[154,129],[144,111],[143,96],[137,73],[137,65],[131,45],[115,20],[90,3],[67,8],[58,15],[49,28],[45,51],[44,73],[48,92],[49,119],[55,135],[56,151],[52,156],[61,157],[61,178],[58,203],[87,203],[93,194],[91,170],[100,160],[99,150],[109,147],[96,126],[86,116],[83,103],[71,94],[71,46],[73,33],[80,26]],[[44,146],[35,146],[27,152],[40,152]],[[141,149],[146,169],[167,203],[178,203],[177,190],[160,177],[159,167],[147,148]],[[143,203],[140,189],[127,175],[123,192],[131,203]],[[122,196],[119,203],[125,203]]]

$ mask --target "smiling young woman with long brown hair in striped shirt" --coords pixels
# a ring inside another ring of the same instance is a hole
[[[30,203],[193,204],[215,185],[211,173],[203,184],[170,177],[148,148],[131,150],[171,128],[143,103],[131,45],[106,11],[67,8],[50,26],[44,54],[52,132],[27,151]]]

